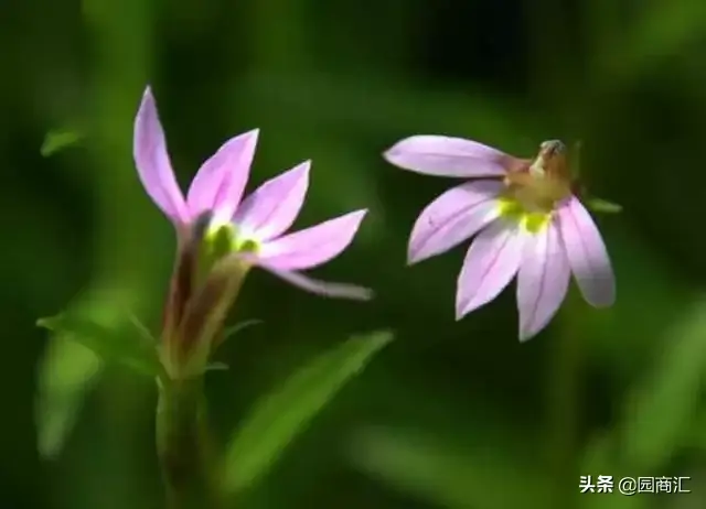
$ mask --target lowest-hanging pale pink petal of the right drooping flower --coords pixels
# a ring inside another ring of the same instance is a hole
[[[555,223],[527,238],[517,272],[521,342],[535,336],[554,317],[566,296],[570,275]]]

